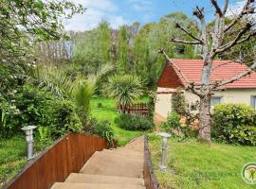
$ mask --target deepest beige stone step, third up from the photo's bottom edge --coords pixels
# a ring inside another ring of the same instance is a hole
[[[142,171],[143,160],[101,152],[95,152],[81,169],[81,173],[84,174],[131,178],[142,178]]]

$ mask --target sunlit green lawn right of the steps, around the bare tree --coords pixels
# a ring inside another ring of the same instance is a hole
[[[245,163],[256,161],[256,147],[225,144],[198,143],[169,140],[166,172],[158,168],[161,157],[161,140],[155,134],[149,136],[151,159],[161,188],[180,189],[249,189],[241,177]]]

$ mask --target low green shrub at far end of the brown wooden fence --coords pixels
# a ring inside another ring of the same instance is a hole
[[[111,146],[114,145],[114,130],[107,120],[97,120],[91,117],[84,131],[92,135],[101,136],[105,138]]]

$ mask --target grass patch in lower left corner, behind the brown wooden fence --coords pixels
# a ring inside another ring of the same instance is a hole
[[[26,165],[26,153],[24,136],[0,140],[0,188]]]

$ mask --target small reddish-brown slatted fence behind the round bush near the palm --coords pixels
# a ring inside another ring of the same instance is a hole
[[[119,111],[120,110],[121,110],[121,107],[119,107]],[[138,104],[133,104],[130,107],[126,107],[124,111],[129,114],[139,114],[143,117],[146,117],[149,115],[149,106],[146,103],[138,103]]]

